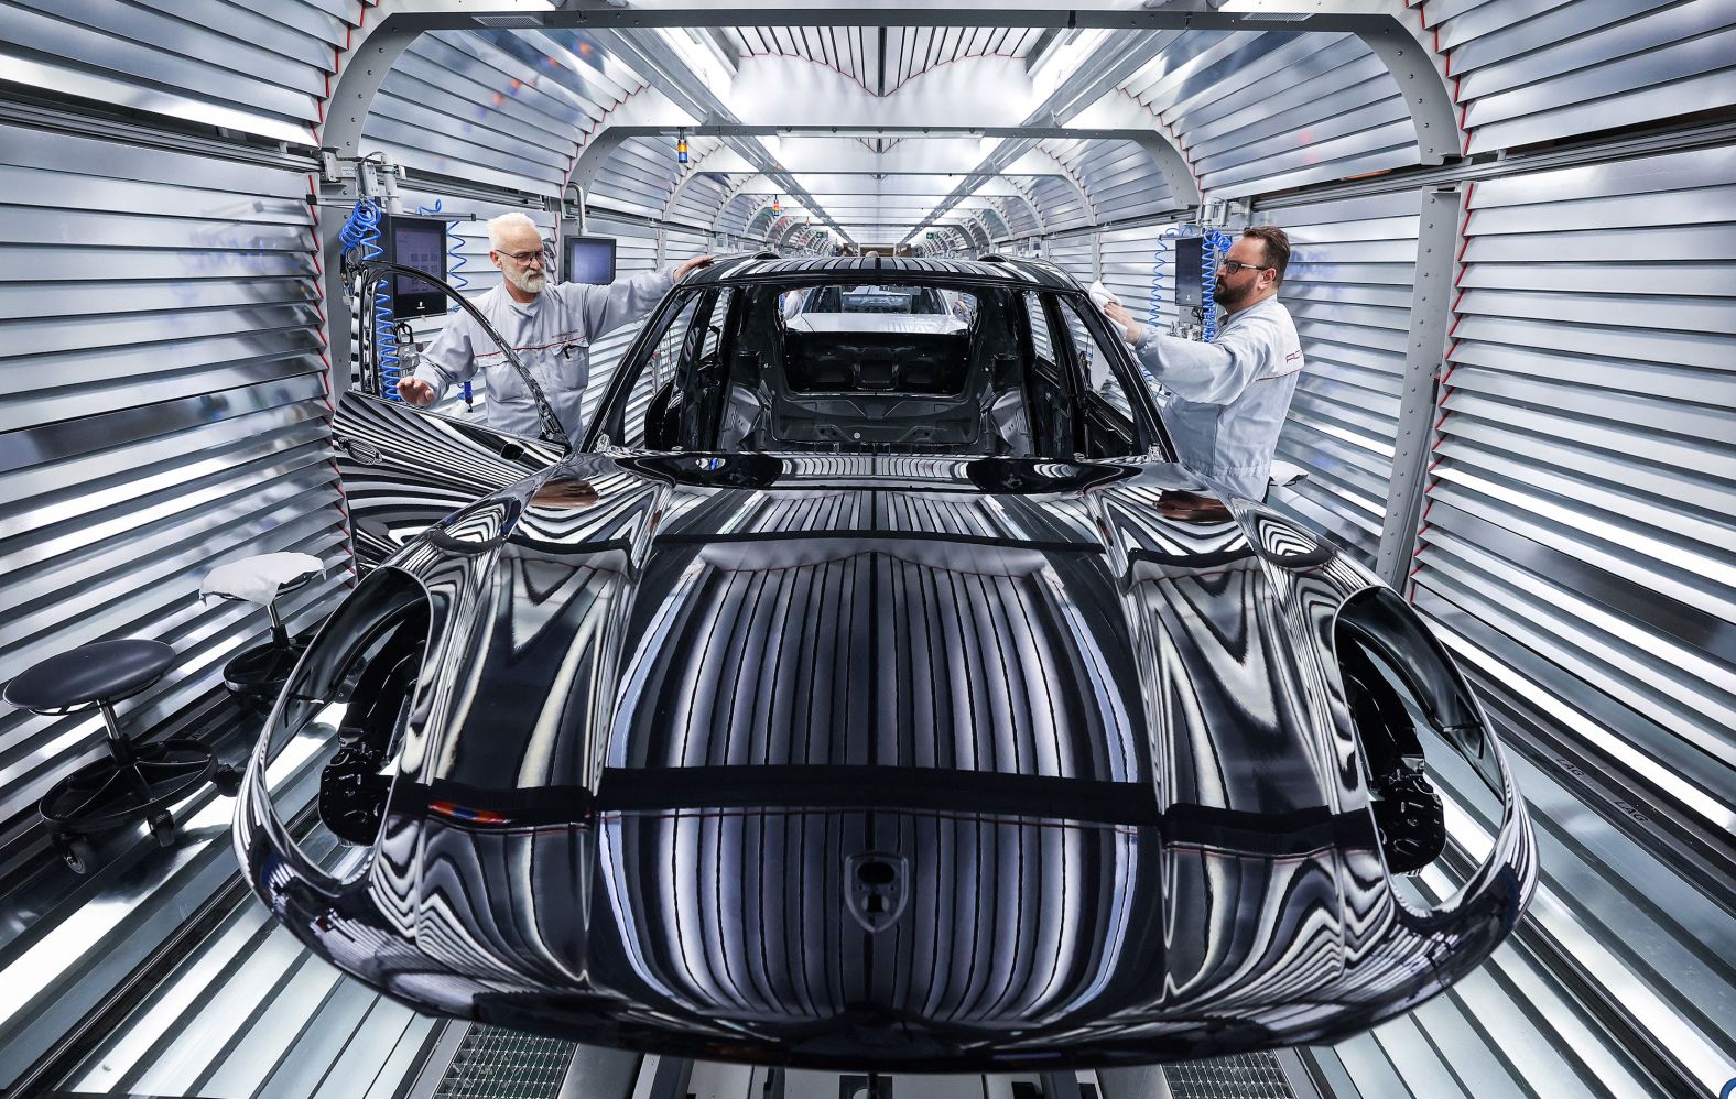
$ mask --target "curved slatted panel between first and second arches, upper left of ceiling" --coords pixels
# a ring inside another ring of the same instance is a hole
[[[392,64],[361,148],[411,170],[557,194],[597,113],[481,35],[436,31]]]

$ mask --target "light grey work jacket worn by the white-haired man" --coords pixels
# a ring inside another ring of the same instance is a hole
[[[585,384],[590,380],[590,340],[651,313],[675,285],[675,267],[618,278],[608,286],[559,283],[545,286],[526,304],[512,300],[505,283],[472,300],[477,313],[500,332],[543,391],[573,446],[585,434]],[[542,434],[536,401],[505,352],[469,313],[446,319],[415,377],[434,387],[434,399],[448,385],[469,382],[481,370],[488,378],[488,425],[519,436]]]

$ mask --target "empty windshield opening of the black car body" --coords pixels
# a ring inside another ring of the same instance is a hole
[[[1097,380],[1113,356],[1062,316],[1054,293],[998,283],[693,290],[654,321],[599,432],[656,451],[1144,455],[1147,417]]]

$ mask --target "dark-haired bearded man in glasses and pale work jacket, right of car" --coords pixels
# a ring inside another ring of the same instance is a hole
[[[1238,495],[1266,498],[1272,451],[1302,375],[1302,340],[1278,286],[1290,238],[1276,226],[1243,231],[1217,266],[1226,319],[1210,344],[1135,321],[1120,302],[1102,311],[1174,396],[1163,410],[1184,465]]]

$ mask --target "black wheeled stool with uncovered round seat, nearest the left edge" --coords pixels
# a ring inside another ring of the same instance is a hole
[[[56,852],[75,873],[90,868],[92,833],[144,821],[170,847],[174,802],[207,781],[227,795],[241,788],[241,773],[219,767],[198,741],[139,745],[122,733],[115,703],[155,684],[174,660],[175,651],[160,641],[97,641],[31,665],[5,688],[5,701],[33,714],[102,712],[109,757],[59,780],[36,804],[54,828]]]

